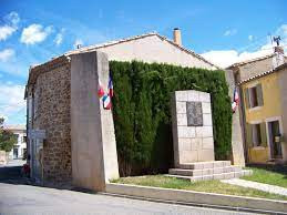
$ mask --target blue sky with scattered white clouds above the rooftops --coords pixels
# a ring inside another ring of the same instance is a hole
[[[226,66],[271,51],[268,34],[287,45],[287,2],[0,0],[0,115],[25,122],[29,65],[83,45],[157,31]]]

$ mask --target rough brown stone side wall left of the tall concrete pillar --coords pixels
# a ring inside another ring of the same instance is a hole
[[[44,181],[71,180],[70,62],[43,68],[34,83],[33,129],[45,130]]]

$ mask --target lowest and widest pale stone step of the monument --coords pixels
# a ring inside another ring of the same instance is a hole
[[[211,180],[230,180],[234,177],[242,177],[245,175],[250,175],[253,172],[249,170],[242,170],[239,172],[229,172],[229,173],[201,175],[201,176],[185,176],[185,175],[172,175],[172,174],[168,174],[166,176],[176,177],[180,180],[187,180],[191,182],[199,182],[199,181],[211,181]]]

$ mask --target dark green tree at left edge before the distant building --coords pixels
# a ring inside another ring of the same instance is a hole
[[[3,129],[4,119],[0,117],[0,150],[10,152],[17,144],[17,135]]]

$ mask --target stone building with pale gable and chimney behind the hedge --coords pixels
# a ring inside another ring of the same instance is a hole
[[[43,64],[32,66],[25,89],[29,131],[44,131],[43,141],[29,137],[32,176],[45,181],[69,181],[71,158],[71,59],[73,55],[101,51],[109,60],[168,63],[182,66],[218,69],[181,43],[181,31],[174,41],[147,33],[109,43],[69,51]],[[75,58],[76,59],[76,58]],[[79,57],[80,59],[80,57]]]

